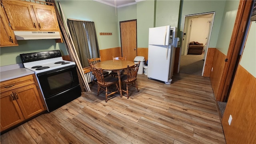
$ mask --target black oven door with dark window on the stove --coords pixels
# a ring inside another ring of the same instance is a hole
[[[79,85],[76,65],[37,74],[44,98],[60,94]]]

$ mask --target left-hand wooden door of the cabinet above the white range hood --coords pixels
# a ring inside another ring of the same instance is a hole
[[[2,3],[12,30],[39,30],[30,2],[3,0]]]

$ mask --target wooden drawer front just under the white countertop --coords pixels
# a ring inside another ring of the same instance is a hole
[[[20,88],[22,86],[27,86],[29,84],[34,84],[34,77],[32,74],[28,76],[22,76],[20,78],[14,78],[12,80],[6,80],[4,82],[1,82],[0,86],[0,91],[2,92],[7,92],[8,90],[13,90],[15,88]]]

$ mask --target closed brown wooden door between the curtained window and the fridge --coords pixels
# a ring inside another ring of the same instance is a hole
[[[122,57],[134,61],[137,56],[137,20],[120,22]]]

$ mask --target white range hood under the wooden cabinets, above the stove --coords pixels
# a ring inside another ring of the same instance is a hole
[[[14,31],[16,40],[59,39],[60,32]]]

